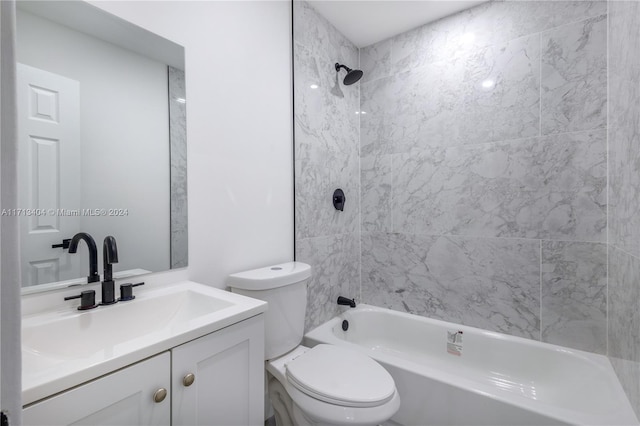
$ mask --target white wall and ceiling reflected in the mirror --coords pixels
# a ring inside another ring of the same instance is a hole
[[[169,269],[167,66],[24,11],[17,21],[18,62],[80,82],[81,206],[128,209],[80,229],[100,250],[116,237],[115,271]]]

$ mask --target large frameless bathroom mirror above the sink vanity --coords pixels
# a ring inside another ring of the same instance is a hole
[[[23,293],[187,266],[184,49],[82,1],[17,3]],[[135,278],[132,278],[134,281]]]

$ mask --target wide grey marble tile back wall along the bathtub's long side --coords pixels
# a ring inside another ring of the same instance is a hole
[[[607,351],[607,4],[360,49],[364,302]]]

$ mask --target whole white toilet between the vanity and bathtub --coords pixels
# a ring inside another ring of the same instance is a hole
[[[377,425],[400,397],[391,375],[355,350],[301,346],[311,267],[289,262],[229,276],[234,293],[269,303],[265,359],[269,397],[280,425]]]

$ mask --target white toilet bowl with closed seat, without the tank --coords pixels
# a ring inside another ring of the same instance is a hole
[[[391,375],[351,349],[298,346],[267,371],[278,424],[377,425],[400,407]]]

